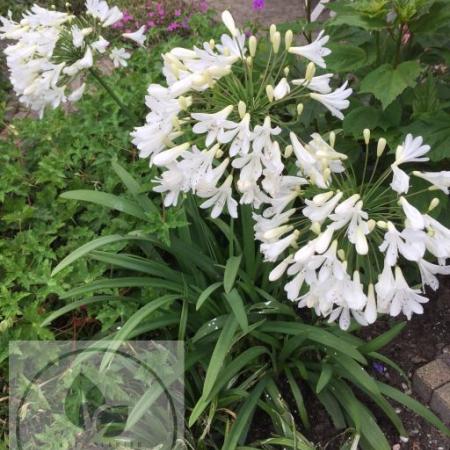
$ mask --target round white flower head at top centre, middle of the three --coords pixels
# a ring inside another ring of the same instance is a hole
[[[302,101],[313,99],[343,118],[352,90],[344,84],[333,92],[332,74],[314,76],[330,53],[323,33],[311,44],[293,47],[288,31],[282,49],[281,34],[272,25],[270,55],[258,55],[262,61],[256,64],[257,39],[246,40],[229,12],[222,18],[230,34],[220,43],[163,55],[167,86],[149,86],[150,113],[132,136],[140,157],[162,168],[155,190],[165,194],[166,206],[192,192],[203,199],[202,208],[212,208],[212,217],[225,205],[236,217],[237,200],[257,208],[295,182],[282,177],[289,111],[298,121]],[[291,55],[311,61],[304,78],[288,79]]]

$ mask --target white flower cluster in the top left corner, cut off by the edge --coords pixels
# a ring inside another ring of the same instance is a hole
[[[15,41],[5,49],[11,84],[19,100],[42,117],[47,106],[57,108],[75,102],[83,95],[81,78],[94,66],[95,57],[107,54],[109,42],[101,32],[122,18],[122,12],[110,8],[104,0],[86,0],[86,14],[47,10],[34,5],[20,22],[11,13],[0,17],[0,39]],[[125,35],[142,43],[142,32]],[[116,67],[126,66],[130,54],[123,48],[109,52]],[[78,87],[71,88],[71,84]]]

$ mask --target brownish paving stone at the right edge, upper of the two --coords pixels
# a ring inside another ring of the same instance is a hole
[[[433,391],[448,382],[450,382],[450,369],[441,359],[436,359],[417,369],[413,377],[414,390],[427,403]]]

